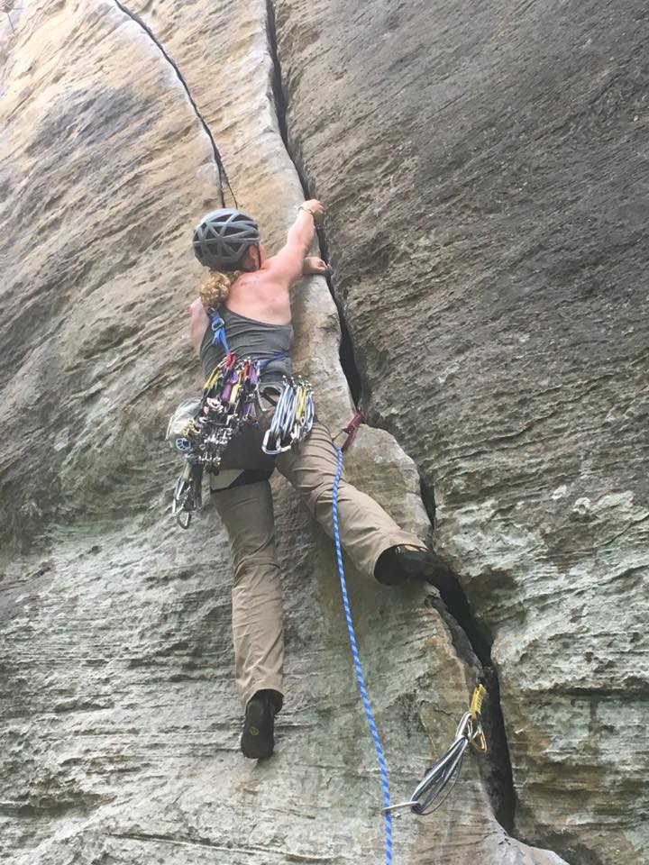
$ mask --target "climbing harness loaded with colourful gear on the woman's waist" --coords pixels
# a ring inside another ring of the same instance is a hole
[[[236,435],[258,426],[255,405],[261,372],[271,360],[288,358],[282,351],[270,358],[238,360],[230,351],[223,318],[210,311],[212,342],[221,345],[224,359],[210,373],[199,398],[184,400],[169,421],[167,439],[185,459],[174,488],[171,513],[187,529],[201,505],[203,472],[218,474],[224,451]],[[314,422],[312,388],[299,376],[283,377],[281,395],[262,450],[278,454],[302,442]]]

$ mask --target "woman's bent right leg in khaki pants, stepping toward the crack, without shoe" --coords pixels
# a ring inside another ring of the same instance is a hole
[[[332,491],[337,460],[330,432],[323,423],[315,421],[299,450],[285,451],[276,461],[279,471],[304,498],[330,537],[334,536]],[[344,473],[338,487],[338,524],[344,551],[356,568],[366,574],[374,575],[380,554],[391,547],[398,544],[423,547],[415,534],[399,528],[371,496],[348,483]]]

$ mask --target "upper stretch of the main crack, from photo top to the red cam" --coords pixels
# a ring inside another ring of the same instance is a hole
[[[316,196],[313,195],[310,189],[308,179],[305,176],[301,159],[297,157],[297,154],[293,152],[292,148],[288,143],[287,102],[286,97],[284,96],[284,88],[282,87],[281,83],[281,66],[279,64],[277,35],[275,32],[275,7],[272,4],[272,0],[266,0],[266,12],[270,57],[273,61],[272,91],[273,99],[275,101],[275,114],[277,114],[279,124],[279,134],[282,137],[282,141],[284,141],[284,146],[286,147],[288,156],[296,168],[297,177],[302,184],[302,190],[304,192],[305,198],[315,198]],[[324,234],[324,228],[322,226],[317,229],[317,237],[318,243],[320,244],[320,253],[325,261],[329,261],[329,248],[326,241],[326,236]],[[334,304],[336,305],[336,309],[338,310],[338,318],[340,321],[341,342],[338,351],[341,366],[343,367],[343,373],[345,378],[347,379],[347,384],[349,385],[354,405],[358,407],[359,403],[361,402],[362,396],[361,374],[358,370],[358,367],[356,366],[356,360],[354,358],[352,337],[350,336],[347,322],[345,321],[343,305],[334,294],[334,287],[332,285],[331,275],[327,275],[326,281],[331,296],[334,300]]]

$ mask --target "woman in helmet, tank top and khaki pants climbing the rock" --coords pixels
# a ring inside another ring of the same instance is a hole
[[[209,269],[200,296],[189,307],[191,338],[206,378],[224,360],[225,346],[239,358],[263,359],[264,364],[257,397],[260,424],[248,426],[227,444],[220,470],[211,476],[233,560],[234,656],[245,708],[241,748],[253,759],[272,753],[274,717],[283,702],[283,614],[269,483],[274,469],[288,479],[324,531],[333,536],[337,454],[324,424],[315,420],[303,441],[277,455],[261,449],[285,377],[291,375],[289,287],[304,273],[326,271],[324,261],[306,256],[323,214],[315,199],[300,205],[286,244],[270,258],[258,224],[240,210],[206,214],[194,232],[197,259]],[[215,336],[222,331],[225,342]],[[344,476],[338,513],[343,549],[357,569],[379,582],[398,585],[412,575],[443,589],[452,580],[433,551],[416,535],[400,529]]]

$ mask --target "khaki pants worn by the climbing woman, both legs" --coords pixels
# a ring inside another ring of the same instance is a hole
[[[235,441],[238,450],[247,448],[251,465],[259,460],[255,451],[261,448],[259,431],[246,432]],[[286,451],[275,458],[276,468],[295,487],[330,537],[334,536],[332,492],[336,464],[332,437],[318,421],[298,451]],[[232,487],[213,493],[213,497],[232,551],[234,656],[237,687],[246,706],[262,688],[283,693],[282,601],[270,483],[262,480]],[[388,547],[421,544],[416,535],[401,530],[373,498],[352,487],[344,479],[344,472],[338,487],[338,524],[344,551],[368,576],[373,576],[379,555]]]

